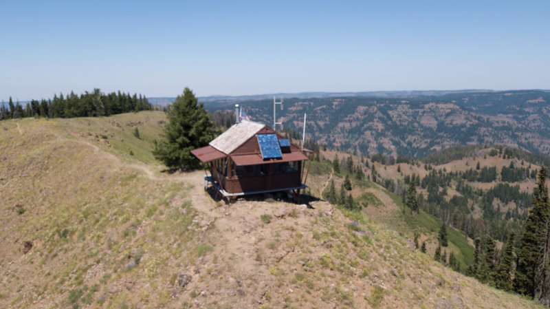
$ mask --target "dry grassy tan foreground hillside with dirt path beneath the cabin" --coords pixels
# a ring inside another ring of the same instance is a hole
[[[369,209],[215,202],[202,171],[151,156],[162,120],[1,122],[1,308],[537,308],[433,262]]]

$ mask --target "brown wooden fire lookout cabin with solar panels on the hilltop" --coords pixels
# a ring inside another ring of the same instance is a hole
[[[191,153],[203,162],[204,187],[212,184],[223,198],[286,191],[300,202],[304,153],[308,149],[289,142],[276,131],[259,122],[241,120],[215,138],[206,147]],[[309,169],[309,166],[307,167]]]

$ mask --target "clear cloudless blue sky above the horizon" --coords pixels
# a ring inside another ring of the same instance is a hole
[[[0,0],[0,100],[550,88],[550,1]]]

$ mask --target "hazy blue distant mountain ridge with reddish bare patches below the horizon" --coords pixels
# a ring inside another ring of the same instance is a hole
[[[307,138],[362,153],[421,158],[446,147],[483,144],[550,154],[550,92],[429,93],[287,98],[277,118],[301,132],[307,113]],[[239,103],[253,120],[273,122],[272,98],[205,103],[227,112]]]

